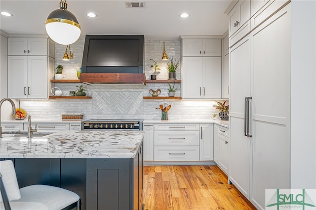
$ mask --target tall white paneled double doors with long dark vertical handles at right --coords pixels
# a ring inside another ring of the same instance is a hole
[[[230,42],[229,180],[262,210],[265,189],[290,188],[291,4],[283,3]]]

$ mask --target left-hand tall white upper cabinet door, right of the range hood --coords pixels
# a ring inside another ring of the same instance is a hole
[[[182,58],[182,97],[202,98],[202,57]]]

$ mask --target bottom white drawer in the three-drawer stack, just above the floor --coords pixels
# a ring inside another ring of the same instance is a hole
[[[198,146],[156,146],[154,150],[155,161],[199,161]]]

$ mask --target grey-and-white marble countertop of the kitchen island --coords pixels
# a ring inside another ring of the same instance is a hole
[[[60,131],[43,137],[0,138],[0,158],[133,158],[143,131]]]

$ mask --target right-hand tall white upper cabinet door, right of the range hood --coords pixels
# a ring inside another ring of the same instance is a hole
[[[222,97],[222,59],[221,57],[202,58],[202,98]]]

